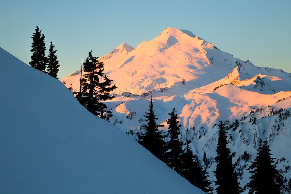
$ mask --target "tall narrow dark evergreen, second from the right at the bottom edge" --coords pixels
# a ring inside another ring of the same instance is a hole
[[[241,193],[242,188],[237,182],[236,173],[232,166],[232,156],[230,149],[227,147],[226,133],[223,124],[219,125],[218,142],[216,148],[217,156],[215,157],[216,170],[214,175],[216,177],[215,189],[217,194],[236,194]]]

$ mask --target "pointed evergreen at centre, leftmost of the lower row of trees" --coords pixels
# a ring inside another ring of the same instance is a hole
[[[164,125],[157,125],[156,120],[158,119],[154,114],[153,107],[152,98],[150,98],[149,112],[145,112],[145,115],[143,115],[147,122],[147,124],[142,125],[145,133],[138,136],[138,142],[158,159],[165,161],[166,143],[162,131],[159,131],[158,129]]]

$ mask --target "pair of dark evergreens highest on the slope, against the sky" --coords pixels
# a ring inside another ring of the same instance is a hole
[[[56,50],[54,50],[54,45],[52,41],[49,46],[49,55],[45,56],[45,35],[41,33],[41,30],[36,26],[35,32],[32,35],[32,52],[31,61],[29,65],[36,68],[42,72],[49,74],[50,76],[58,79],[57,74],[59,70],[59,61],[57,60]]]

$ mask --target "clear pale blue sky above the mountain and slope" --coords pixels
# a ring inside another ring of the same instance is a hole
[[[291,72],[291,1],[2,1],[0,47],[25,63],[38,25],[52,41],[60,79],[93,50],[136,47],[166,27],[187,29],[260,67]]]

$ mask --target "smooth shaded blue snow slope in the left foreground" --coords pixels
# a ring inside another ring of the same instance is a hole
[[[203,193],[0,48],[1,193]]]

